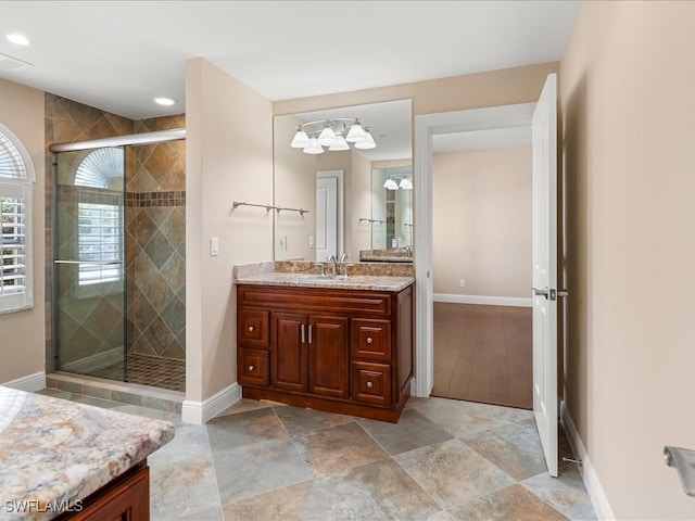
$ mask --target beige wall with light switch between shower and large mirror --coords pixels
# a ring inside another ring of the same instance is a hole
[[[231,268],[273,258],[271,215],[231,212],[271,200],[273,106],[201,59],[187,62],[186,89],[186,397],[203,401],[237,381]]]

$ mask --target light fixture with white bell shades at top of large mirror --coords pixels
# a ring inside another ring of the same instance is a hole
[[[302,149],[305,154],[321,154],[329,151],[355,149],[369,150],[377,147],[369,129],[356,117],[333,117],[304,123],[296,127],[290,147]]]

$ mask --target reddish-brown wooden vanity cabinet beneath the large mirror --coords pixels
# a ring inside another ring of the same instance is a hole
[[[244,397],[397,421],[413,377],[413,285],[239,284],[237,306]]]

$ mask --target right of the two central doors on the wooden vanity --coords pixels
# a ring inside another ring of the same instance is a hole
[[[309,393],[346,398],[349,319],[309,317]]]

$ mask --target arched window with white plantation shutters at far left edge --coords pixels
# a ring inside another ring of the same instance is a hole
[[[0,313],[34,306],[31,188],[26,148],[0,124]]]

